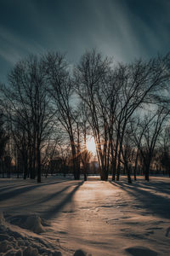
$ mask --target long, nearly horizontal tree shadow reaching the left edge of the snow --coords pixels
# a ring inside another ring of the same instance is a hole
[[[28,191],[31,191],[32,189],[38,189],[42,186],[47,186],[47,185],[52,185],[52,184],[57,184],[57,183],[66,183],[68,182],[68,180],[65,181],[55,181],[52,183],[40,183],[40,184],[27,184],[24,187],[21,187],[19,189],[11,189],[10,191],[6,192],[6,193],[2,193],[1,191],[1,196],[0,196],[0,201],[6,201],[8,199],[14,198],[17,195],[26,193]]]

